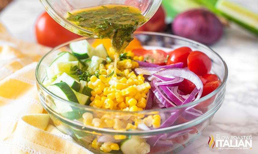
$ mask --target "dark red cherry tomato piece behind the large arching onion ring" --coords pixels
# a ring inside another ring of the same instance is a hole
[[[206,83],[206,80],[199,75],[198,77],[201,79],[204,85]],[[191,94],[195,87],[196,86],[193,84],[193,82],[189,81],[188,79],[184,79],[178,86],[178,90],[182,91],[185,94]]]

